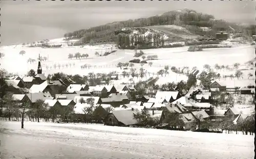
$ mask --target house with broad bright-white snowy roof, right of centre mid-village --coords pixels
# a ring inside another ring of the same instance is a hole
[[[170,102],[170,103],[179,99],[180,97],[181,97],[181,94],[178,91],[172,92],[172,91],[160,91],[160,90],[157,91],[156,96],[155,96],[156,99],[163,98],[167,102]]]

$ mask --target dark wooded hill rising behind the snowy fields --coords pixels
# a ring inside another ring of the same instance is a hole
[[[163,41],[186,40],[186,38],[180,36],[179,29],[170,31],[171,27],[168,27],[167,25],[180,26],[186,30],[186,34],[191,35],[215,36],[215,33],[219,31],[225,31],[228,33],[243,33],[250,37],[251,35],[255,35],[254,25],[242,26],[221,19],[215,19],[214,16],[209,14],[203,14],[194,10],[183,9],[166,12],[161,15],[148,18],[118,21],[102,26],[92,27],[89,29],[81,29],[74,31],[73,33],[67,33],[64,35],[64,37],[67,40],[80,39],[79,42],[77,42],[75,45],[89,42],[117,42],[121,48],[123,48],[122,46],[126,48],[128,46],[128,41],[130,42],[129,46],[131,46],[134,44],[134,42],[150,42],[151,39],[154,39],[152,41],[157,41],[155,42],[156,47],[161,47]],[[123,31],[123,28],[130,29]],[[133,32],[131,35],[131,30],[134,30],[134,28],[144,28],[140,29],[144,33],[150,29],[151,34],[145,35],[141,32]],[[164,38],[163,34],[168,36],[168,38]],[[138,39],[140,39],[140,41],[138,41]],[[133,42],[131,42],[132,40]]]

